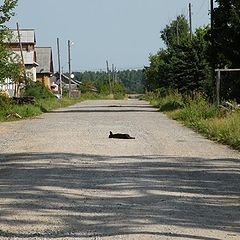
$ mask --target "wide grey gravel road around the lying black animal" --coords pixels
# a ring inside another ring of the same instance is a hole
[[[240,153],[144,101],[84,101],[0,136],[0,239],[240,239]]]

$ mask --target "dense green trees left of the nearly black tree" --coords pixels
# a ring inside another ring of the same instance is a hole
[[[171,26],[175,24],[176,21],[173,21]],[[170,31],[169,28],[171,29],[167,26],[163,32]],[[183,28],[186,29],[186,21]],[[184,31],[185,35],[182,35],[179,44],[175,40],[168,40],[167,49],[161,49],[156,55],[151,55],[150,66],[144,71],[146,89],[153,91],[157,88],[173,88],[181,93],[210,93],[210,64],[207,58],[209,42],[205,40],[207,30],[197,29],[191,41],[188,39],[188,33]]]

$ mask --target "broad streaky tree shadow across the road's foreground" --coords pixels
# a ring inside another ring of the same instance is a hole
[[[239,234],[239,167],[238,159],[0,154],[0,226],[14,225],[20,230],[21,226],[47,226],[44,232],[5,231],[0,227],[0,236],[148,234],[172,239],[216,239],[152,231],[148,230],[150,225]],[[60,221],[61,230],[48,226],[45,218],[40,217],[40,222],[11,217],[27,210],[49,216],[53,225]]]

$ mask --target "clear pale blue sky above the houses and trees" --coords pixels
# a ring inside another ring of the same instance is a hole
[[[3,0],[0,0],[0,2]],[[18,0],[9,28],[34,29],[37,47],[52,47],[58,71],[68,71],[68,40],[73,71],[106,71],[109,66],[142,69],[149,55],[164,47],[160,31],[180,14],[188,19],[192,4],[193,29],[210,22],[209,0]]]

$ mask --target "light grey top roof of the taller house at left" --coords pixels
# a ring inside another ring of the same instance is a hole
[[[18,43],[18,31],[16,29],[11,29],[12,31],[12,38],[11,43]],[[22,43],[36,43],[36,37],[34,29],[20,29],[20,39]]]

